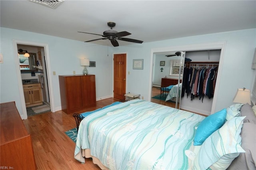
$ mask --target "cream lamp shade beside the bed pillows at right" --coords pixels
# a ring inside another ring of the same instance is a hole
[[[234,103],[242,103],[242,104],[248,103],[249,105],[251,105],[250,90],[245,89],[245,88],[238,89],[233,102]]]

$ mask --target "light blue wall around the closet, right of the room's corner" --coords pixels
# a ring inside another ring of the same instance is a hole
[[[127,51],[127,91],[140,93],[147,99],[149,87],[150,55],[152,48],[172,47],[191,44],[226,42],[220,88],[217,94],[216,111],[233,104],[238,88],[252,88],[253,70],[251,69],[254,49],[256,47],[256,29],[222,32],[143,43],[115,48],[115,52]],[[144,59],[143,70],[132,69],[132,59]]]

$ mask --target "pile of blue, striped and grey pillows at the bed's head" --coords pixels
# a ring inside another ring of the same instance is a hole
[[[254,130],[256,116],[248,104],[230,105],[227,109],[206,117],[198,126],[194,138],[194,145],[202,145],[194,159],[194,169],[225,170],[232,167],[231,169],[256,170]],[[234,162],[242,165],[234,166]]]

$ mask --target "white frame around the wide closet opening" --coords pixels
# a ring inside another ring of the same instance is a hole
[[[150,77],[149,77],[149,87],[152,87],[152,73],[153,73],[153,59],[156,53],[163,52],[172,52],[172,51],[197,51],[197,50],[211,50],[211,49],[221,49],[220,52],[220,62],[218,67],[218,76],[216,79],[215,91],[214,94],[218,94],[220,86],[220,75],[222,72],[223,61],[224,61],[224,52],[226,48],[226,42],[213,42],[213,43],[201,43],[201,44],[192,44],[192,45],[179,45],[179,46],[170,46],[170,47],[159,47],[152,48],[150,55]],[[148,101],[151,99],[151,88],[148,89]],[[212,100],[212,109],[211,114],[215,113],[217,102],[217,95],[214,95]]]

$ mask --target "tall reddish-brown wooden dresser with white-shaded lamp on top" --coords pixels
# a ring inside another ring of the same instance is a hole
[[[96,106],[95,75],[59,75],[62,111],[79,113]]]

